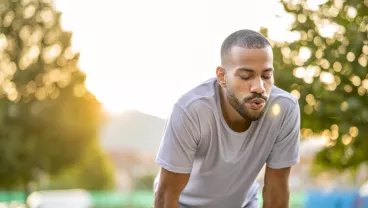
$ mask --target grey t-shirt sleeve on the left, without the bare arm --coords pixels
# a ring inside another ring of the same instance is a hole
[[[199,142],[196,120],[179,105],[174,105],[167,120],[156,162],[175,173],[190,173]]]

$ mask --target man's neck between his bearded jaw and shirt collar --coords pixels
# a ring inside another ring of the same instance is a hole
[[[225,90],[219,87],[220,93],[220,106],[222,115],[227,123],[227,125],[236,132],[243,132],[246,131],[251,122],[245,120],[229,103]]]

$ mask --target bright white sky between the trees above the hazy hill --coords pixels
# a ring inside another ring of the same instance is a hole
[[[56,7],[73,31],[87,88],[105,109],[162,118],[185,91],[215,76],[227,35],[263,25],[283,40],[292,20],[276,0],[56,0]]]

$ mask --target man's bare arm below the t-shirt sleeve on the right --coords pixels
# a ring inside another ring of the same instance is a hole
[[[263,187],[263,208],[289,207],[290,167],[273,169],[266,166]]]

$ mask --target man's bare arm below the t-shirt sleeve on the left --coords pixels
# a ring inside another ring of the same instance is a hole
[[[189,174],[174,173],[161,168],[154,208],[178,208],[179,196],[187,185]]]

